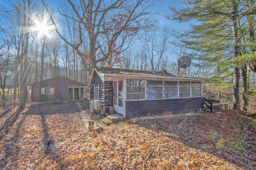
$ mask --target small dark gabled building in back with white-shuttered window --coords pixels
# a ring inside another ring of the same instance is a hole
[[[31,88],[31,104],[84,100],[85,87],[85,84],[63,76],[35,82]]]

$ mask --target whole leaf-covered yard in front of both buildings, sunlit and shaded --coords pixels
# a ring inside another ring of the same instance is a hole
[[[88,132],[83,110],[99,120],[89,101],[5,110],[0,169],[256,169],[256,122],[232,111],[133,118]]]

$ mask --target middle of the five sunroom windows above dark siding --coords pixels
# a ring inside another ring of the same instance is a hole
[[[178,98],[178,82],[164,82],[164,96],[166,99]]]

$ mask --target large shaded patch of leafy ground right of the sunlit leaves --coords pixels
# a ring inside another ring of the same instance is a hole
[[[132,119],[131,123],[163,131],[172,140],[217,156],[238,167],[256,167],[256,122],[235,113],[202,114],[159,119]]]

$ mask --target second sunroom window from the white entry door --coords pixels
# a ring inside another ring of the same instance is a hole
[[[163,99],[163,82],[148,80],[147,96],[148,100]]]

